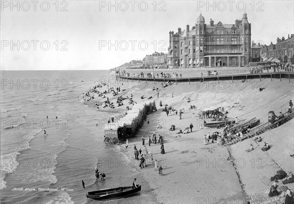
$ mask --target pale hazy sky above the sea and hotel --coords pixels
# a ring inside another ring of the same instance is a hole
[[[197,17],[234,24],[247,13],[251,40],[294,33],[293,0],[1,0],[1,70],[105,70],[154,51]]]

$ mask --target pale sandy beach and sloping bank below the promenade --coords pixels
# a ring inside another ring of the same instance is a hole
[[[252,143],[251,139],[232,145],[230,148],[235,159],[240,162],[246,161],[245,164],[238,163],[237,169],[240,173],[245,193],[239,182],[238,175],[233,167],[227,151],[227,147],[218,146],[216,143],[203,145],[203,135],[207,131],[218,131],[213,128],[200,129],[203,120],[198,118],[197,113],[200,110],[215,109],[224,107],[227,110],[228,117],[233,119],[236,116],[240,120],[249,120],[251,118],[262,119],[267,122],[268,112],[274,110],[276,113],[280,111],[282,106],[288,108],[288,102],[293,98],[293,82],[289,83],[288,79],[273,78],[248,80],[247,83],[239,81],[210,81],[205,84],[199,82],[172,84],[162,89],[160,83],[154,82],[138,82],[120,81],[118,84],[125,87],[125,91],[120,92],[119,96],[130,96],[133,94],[135,102],[144,102],[148,96],[152,96],[151,100],[155,100],[157,112],[148,115],[150,124],[147,122],[137,133],[136,137],[129,140],[129,156],[133,159],[133,145],[142,148],[141,137],[145,135],[146,144],[147,137],[153,132],[157,135],[161,134],[165,137],[164,147],[166,154],[160,154],[160,145],[151,144],[147,146],[148,152],[152,152],[154,159],[158,159],[163,167],[163,176],[160,177],[158,172],[154,171],[153,165],[140,170],[138,163],[135,162],[135,168],[142,172],[143,177],[149,182],[153,192],[157,195],[158,201],[162,203],[226,203],[228,200],[235,203],[245,203],[246,194],[264,193],[270,187],[269,178],[274,176],[275,171],[282,167],[286,172],[293,169],[289,164],[289,153],[293,153],[293,121],[262,134],[273,147],[267,153],[260,151],[260,147],[251,153],[245,153],[245,149],[249,148]],[[152,91],[153,87],[159,88],[159,98],[157,92]],[[259,88],[265,88],[259,91]],[[146,98],[141,100],[141,96]],[[118,96],[109,97],[109,100],[116,104]],[[191,102],[188,103],[187,99]],[[97,99],[96,99],[97,100]],[[90,101],[94,104],[96,101]],[[98,101],[102,101],[98,98]],[[173,106],[175,109],[183,109],[185,113],[182,120],[178,115],[167,116],[159,107],[159,101],[163,104]],[[125,107],[132,105],[126,104],[116,110],[121,114],[125,111]],[[190,105],[195,105],[196,109],[189,110]],[[108,109],[108,108],[107,108]],[[194,129],[192,133],[178,135],[179,128],[184,130],[193,123]],[[290,125],[291,124],[291,125]],[[162,128],[157,128],[159,125]],[[171,125],[175,125],[175,131],[169,131]],[[288,128],[285,128],[288,127]],[[221,129],[222,132],[222,129]],[[271,133],[273,132],[273,133]],[[284,135],[284,140],[279,137]],[[277,141],[280,142],[277,145]],[[288,145],[285,145],[288,144]],[[259,144],[262,146],[262,144]],[[261,153],[260,153],[261,152]],[[256,155],[255,155],[256,154]],[[269,171],[259,171],[256,165],[259,165],[258,158],[264,159],[265,166],[270,166]],[[243,159],[241,159],[243,158]],[[253,162],[250,162],[250,160]],[[254,161],[253,161],[254,160]],[[276,166],[272,165],[276,161]],[[292,160],[290,160],[292,161]],[[253,165],[253,167],[252,167]],[[255,166],[254,166],[255,165]],[[280,165],[280,166],[279,166]],[[257,173],[259,171],[259,173]],[[252,176],[253,175],[253,176]],[[257,179],[259,178],[259,179]],[[138,178],[137,178],[138,179]],[[226,201],[224,201],[224,199]]]

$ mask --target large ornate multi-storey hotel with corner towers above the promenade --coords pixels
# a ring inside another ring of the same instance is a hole
[[[169,67],[197,68],[246,66],[251,60],[251,24],[247,14],[235,24],[205,24],[200,14],[190,30],[170,31]]]

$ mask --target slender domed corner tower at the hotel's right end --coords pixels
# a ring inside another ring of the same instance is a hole
[[[243,40],[243,56],[242,64],[248,65],[251,61],[251,24],[248,23],[247,13],[244,12],[242,22],[240,25],[241,34],[240,37]]]

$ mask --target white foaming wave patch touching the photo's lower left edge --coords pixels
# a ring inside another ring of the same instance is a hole
[[[0,190],[7,187],[6,181],[4,181],[4,178],[6,174],[13,173],[19,163],[17,162],[17,155],[19,155],[19,152],[9,153],[1,156],[1,180],[0,180]]]

